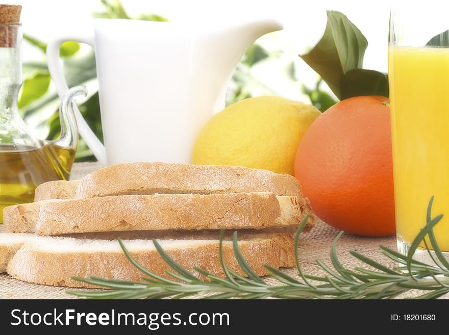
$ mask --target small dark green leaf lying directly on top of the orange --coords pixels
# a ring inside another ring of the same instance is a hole
[[[374,70],[350,70],[341,77],[340,94],[341,99],[361,95],[389,97],[388,75]]]

